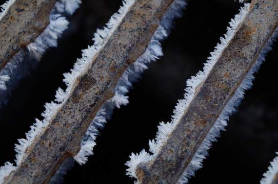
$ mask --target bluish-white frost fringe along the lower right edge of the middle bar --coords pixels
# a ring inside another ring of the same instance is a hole
[[[159,41],[167,37],[167,33],[170,32],[170,28],[173,24],[172,20],[182,15],[181,11],[185,8],[185,5],[186,3],[184,0],[175,0],[168,7],[160,20],[160,26],[156,29],[148,44],[146,52],[138,57],[133,64],[130,64],[118,80],[115,96],[102,105],[96,117],[91,122],[87,132],[83,135],[81,150],[74,156],[77,163],[80,165],[85,164],[88,160],[88,156],[93,154],[92,150],[95,145],[94,140],[97,135],[97,127],[103,126],[106,122],[106,118],[110,117],[113,108],[120,108],[121,105],[126,105],[128,103],[126,93],[130,89],[132,81],[140,77],[140,74],[148,68],[148,63],[155,61],[158,59],[158,56],[163,55],[161,43]]]

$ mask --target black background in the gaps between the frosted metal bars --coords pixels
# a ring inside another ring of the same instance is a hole
[[[35,118],[42,119],[45,102],[54,100],[81,50],[93,44],[96,28],[102,29],[122,5],[121,0],[83,1],[69,17],[70,25],[58,48],[49,49],[36,70],[22,79],[9,103],[0,111],[1,161],[13,162],[16,139],[25,137]],[[164,56],[149,65],[128,93],[129,104],[115,109],[111,120],[100,130],[94,155],[84,166],[68,171],[64,183],[133,183],[125,175],[131,152],[148,150],[159,122],[171,121],[172,110],[182,99],[186,80],[203,69],[228,22],[238,13],[239,3],[231,1],[189,1],[183,18],[163,41]],[[246,92],[226,131],[213,143],[204,167],[189,183],[259,183],[278,151],[278,105],[276,68],[278,45],[266,58],[251,90]]]

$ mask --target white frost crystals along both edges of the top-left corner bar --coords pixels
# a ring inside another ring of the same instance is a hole
[[[14,0],[10,0],[2,5],[3,12],[0,13],[1,18],[13,2]],[[79,7],[80,3],[81,0],[58,0],[55,3],[49,15],[49,25],[32,43],[28,44],[26,47],[31,58],[40,60],[44,52],[49,47],[57,47],[57,38],[61,37],[63,31],[67,29],[69,24],[66,17],[62,16],[61,13],[67,12],[72,14]],[[4,96],[4,91],[7,90],[7,83],[12,82],[10,79],[18,78],[20,75],[18,73],[14,73],[14,71],[21,64],[26,55],[27,52],[22,49],[1,69],[0,96]],[[16,75],[16,77],[14,75]],[[2,101],[4,100],[5,98],[2,98]]]

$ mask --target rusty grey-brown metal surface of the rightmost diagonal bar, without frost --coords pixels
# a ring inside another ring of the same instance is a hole
[[[156,157],[140,164],[140,184],[176,183],[277,27],[278,1],[253,0],[242,24]]]

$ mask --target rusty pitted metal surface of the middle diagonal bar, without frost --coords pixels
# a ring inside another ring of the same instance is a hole
[[[4,183],[47,183],[68,155],[80,150],[82,135],[101,105],[113,97],[128,64],[145,52],[172,0],[137,0],[105,47],[75,81],[69,98],[28,149]]]

